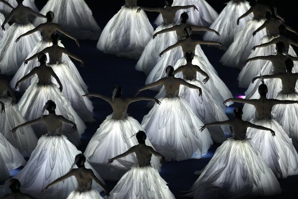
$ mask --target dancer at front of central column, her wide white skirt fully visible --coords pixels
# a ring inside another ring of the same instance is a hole
[[[153,146],[166,157],[166,160],[187,160],[201,158],[213,144],[209,131],[199,132],[203,122],[193,112],[188,102],[180,98],[180,85],[191,89],[198,89],[199,96],[202,89],[174,77],[174,68],[166,68],[166,78],[149,84],[137,91],[163,85],[166,97],[159,99],[161,105],[154,105],[144,116],[142,126],[148,134]]]

